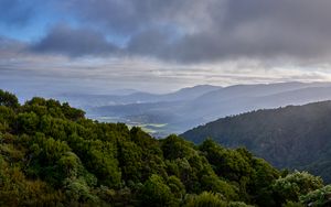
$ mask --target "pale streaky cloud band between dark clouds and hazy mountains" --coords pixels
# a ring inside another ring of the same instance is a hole
[[[167,44],[171,44],[171,40]],[[22,42],[0,37],[0,88],[18,91],[22,97],[63,91],[107,94],[116,88],[161,92],[199,84],[331,80],[330,65],[302,68],[284,63],[275,67],[253,59],[181,64],[125,56],[67,58],[29,53],[26,47],[29,45]],[[150,54],[150,51],[137,53]]]

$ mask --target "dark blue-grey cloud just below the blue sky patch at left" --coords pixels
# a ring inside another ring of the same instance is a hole
[[[31,45],[36,53],[52,53],[68,56],[114,54],[118,47],[108,42],[98,32],[87,29],[73,29],[68,25],[56,25],[46,36]]]

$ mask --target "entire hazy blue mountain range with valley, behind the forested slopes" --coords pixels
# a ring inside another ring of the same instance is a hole
[[[207,91],[209,89],[211,91]],[[330,91],[330,83],[237,85],[225,88],[196,86],[168,95],[149,95],[148,97],[146,94],[140,94],[142,97],[140,101],[138,101],[139,95],[134,94],[129,96],[131,98],[129,103],[94,107],[87,111],[95,118],[110,117],[113,121],[163,124],[162,131],[166,133],[161,135],[166,135],[181,133],[225,116],[263,108],[328,100],[331,99]],[[126,97],[119,97],[118,100]],[[151,120],[153,121],[150,122]]]

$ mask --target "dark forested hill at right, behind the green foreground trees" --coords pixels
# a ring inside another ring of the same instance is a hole
[[[227,117],[182,134],[246,146],[274,166],[307,170],[331,182],[331,101],[257,110]]]

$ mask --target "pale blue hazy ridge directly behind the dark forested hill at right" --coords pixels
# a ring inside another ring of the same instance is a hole
[[[253,89],[255,90],[255,89]],[[258,89],[260,90],[260,89]],[[215,94],[204,95],[203,97],[191,101],[188,108],[199,108],[196,116],[203,117],[207,121],[224,116],[237,115],[255,109],[276,108],[287,105],[302,105],[319,100],[331,99],[331,86],[329,87],[307,87],[278,94],[257,96],[249,90],[243,96],[234,95],[232,98],[227,96],[216,96]]]

